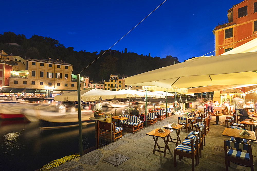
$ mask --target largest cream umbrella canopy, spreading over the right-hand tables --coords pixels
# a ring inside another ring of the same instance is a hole
[[[126,85],[188,88],[255,84],[257,52],[202,57],[125,78]]]

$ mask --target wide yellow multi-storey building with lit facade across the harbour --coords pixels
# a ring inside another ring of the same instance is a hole
[[[60,94],[77,90],[77,76],[71,74],[70,63],[51,58],[45,60],[28,59],[28,70],[12,71],[10,88],[23,93]],[[83,90],[83,78],[80,78]]]

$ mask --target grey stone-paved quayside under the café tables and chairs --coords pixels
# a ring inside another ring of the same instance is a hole
[[[188,109],[191,111],[190,109]],[[184,157],[179,161],[177,156],[177,167],[174,167],[173,149],[176,147],[175,143],[169,142],[171,152],[167,150],[166,157],[163,153],[155,152],[153,154],[154,141],[146,133],[160,128],[169,123],[177,123],[179,115],[170,116],[162,121],[155,123],[152,126],[145,127],[144,129],[136,132],[135,134],[127,135],[120,140],[89,152],[77,159],[62,164],[52,170],[191,170],[191,159]],[[224,143],[223,140],[228,140],[229,137],[222,136],[225,129],[225,116],[219,117],[223,121],[222,126],[212,125],[215,117],[210,121],[210,132],[206,135],[206,146],[202,151],[198,166],[195,170],[225,170],[224,158]],[[250,127],[246,129],[250,130]],[[186,137],[185,129],[180,131],[180,138],[183,141]],[[171,133],[173,138],[176,137],[176,132]],[[163,140],[159,140],[160,146],[165,146]],[[257,143],[250,142],[252,145],[254,169],[257,170]],[[118,166],[112,165],[106,161],[105,158],[119,153],[130,157],[130,159],[121,163]],[[250,170],[250,167],[244,167],[231,162],[229,170]]]

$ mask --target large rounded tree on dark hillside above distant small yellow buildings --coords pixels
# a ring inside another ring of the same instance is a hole
[[[104,62],[101,62],[101,68],[99,70],[98,76],[103,79],[108,79],[111,74],[116,74],[117,72],[117,60],[118,58],[108,55],[104,58]]]

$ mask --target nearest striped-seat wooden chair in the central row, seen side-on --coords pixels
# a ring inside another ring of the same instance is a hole
[[[195,170],[195,165],[198,165],[198,137],[197,134],[190,139],[190,146],[180,144],[174,149],[174,166],[177,166],[176,155],[179,155],[179,160],[181,157],[191,158],[192,160],[192,171]],[[195,145],[194,145],[195,144]],[[195,159],[195,162],[194,162]]]

